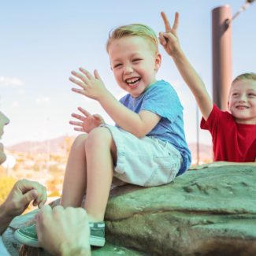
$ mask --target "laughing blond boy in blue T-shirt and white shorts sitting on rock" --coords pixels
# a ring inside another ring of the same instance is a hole
[[[98,71],[72,71],[72,91],[93,98],[116,126],[104,124],[80,108],[73,114],[76,138],[69,154],[61,205],[81,206],[91,222],[90,243],[103,246],[104,214],[113,176],[124,183],[150,187],[170,183],[191,164],[184,135],[183,107],[173,87],[157,80],[161,66],[158,38],[143,24],[121,26],[110,33],[106,50],[118,85],[128,92],[118,101],[107,90]],[[34,228],[35,229],[35,228]],[[20,229],[17,239],[32,246],[32,228]],[[36,236],[34,237],[36,239]],[[34,241],[35,241],[34,239]]]

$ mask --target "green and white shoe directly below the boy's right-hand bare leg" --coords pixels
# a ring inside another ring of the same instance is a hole
[[[89,242],[93,247],[103,247],[105,244],[105,222],[89,223],[91,235]]]

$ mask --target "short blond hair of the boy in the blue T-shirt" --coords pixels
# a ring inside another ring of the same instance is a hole
[[[109,32],[109,39],[106,42],[106,51],[109,52],[109,46],[115,39],[121,39],[128,36],[139,36],[147,39],[153,46],[155,53],[158,53],[158,37],[154,30],[143,24],[128,24],[114,28]]]

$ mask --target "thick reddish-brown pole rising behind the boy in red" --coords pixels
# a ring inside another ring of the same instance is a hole
[[[212,10],[213,102],[228,109],[228,91],[232,83],[232,19],[229,6]]]

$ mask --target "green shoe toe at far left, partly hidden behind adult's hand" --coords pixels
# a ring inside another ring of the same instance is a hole
[[[37,239],[35,224],[25,228],[19,228],[14,232],[14,238],[22,244],[30,247],[39,247],[39,240]]]

